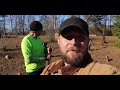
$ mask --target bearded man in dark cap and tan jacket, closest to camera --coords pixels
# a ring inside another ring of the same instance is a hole
[[[107,64],[93,61],[88,53],[88,24],[78,17],[61,23],[58,45],[61,60],[52,62],[41,75],[117,75],[119,70]]]

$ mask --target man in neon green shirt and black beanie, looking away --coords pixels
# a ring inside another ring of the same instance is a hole
[[[26,75],[40,75],[45,67],[45,46],[40,35],[43,25],[39,21],[30,24],[29,34],[21,42],[21,50],[24,57]]]

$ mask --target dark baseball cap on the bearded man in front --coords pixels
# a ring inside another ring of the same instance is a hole
[[[71,26],[78,27],[78,30],[82,30],[84,34],[86,34],[89,37],[88,24],[83,19],[78,17],[71,17],[63,21],[59,28],[59,35],[63,30]]]

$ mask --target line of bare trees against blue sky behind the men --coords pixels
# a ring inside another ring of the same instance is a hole
[[[0,15],[0,33],[25,35],[30,23],[37,19],[43,24],[44,34],[54,37],[59,25],[74,16],[83,18],[89,25],[90,33],[103,35],[103,39],[105,35],[119,34],[119,15]]]

